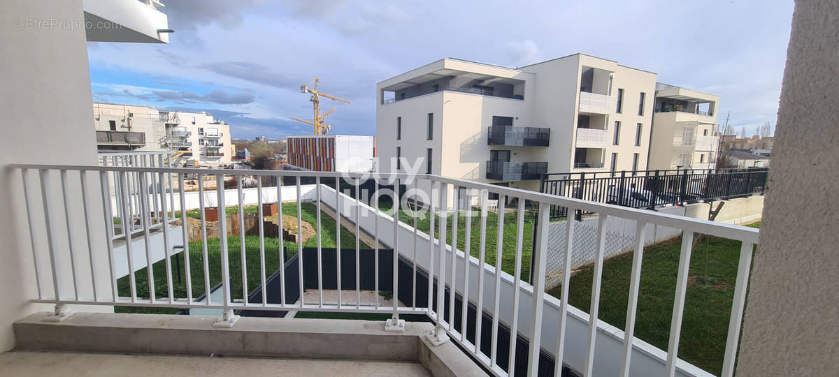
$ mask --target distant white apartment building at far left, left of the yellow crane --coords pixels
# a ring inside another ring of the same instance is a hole
[[[188,165],[231,163],[230,126],[206,112],[93,104],[100,151],[169,151]]]

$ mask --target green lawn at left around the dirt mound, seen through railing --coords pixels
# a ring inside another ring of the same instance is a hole
[[[253,207],[256,208],[255,206]],[[283,204],[283,213],[296,216],[297,204]],[[317,209],[315,204],[304,203],[301,205],[302,219],[310,224],[316,223]],[[336,243],[336,224],[329,215],[321,213],[321,230],[320,242],[322,247],[335,247]],[[314,225],[313,225],[314,227]],[[316,230],[316,228],[315,228]],[[211,287],[221,282],[221,251],[220,241],[218,239],[207,240],[207,256],[210,273]],[[312,237],[303,244],[304,247],[316,247],[317,238]],[[355,248],[355,235],[346,229],[341,229],[341,247]],[[294,256],[297,253],[297,245],[293,242],[285,241],[286,258]],[[361,247],[367,247],[362,243]],[[231,293],[233,298],[242,298],[242,269],[241,269],[241,245],[240,239],[237,235],[227,236],[227,258],[229,261],[230,276],[232,278]],[[133,250],[133,252],[144,253],[145,250]],[[259,266],[259,236],[246,235],[245,236],[245,260],[248,271],[248,291],[253,291],[255,287],[261,283],[261,273]],[[183,254],[179,253],[170,258],[173,275],[173,292],[175,297],[186,297],[185,285],[185,264],[183,261]],[[179,274],[176,267],[180,266],[180,281]],[[266,277],[279,269],[279,241],[275,238],[265,239],[265,274]],[[159,300],[168,300],[169,293],[166,285],[166,264],[165,261],[158,261],[152,267],[154,276],[154,292],[155,297]],[[190,273],[192,280],[192,295],[197,298],[204,294],[204,261],[201,241],[190,242]],[[138,270],[134,274],[136,281],[137,295],[141,298],[149,297],[149,275],[145,268]],[[120,296],[130,296],[130,282],[128,276],[123,276],[117,280],[117,287]],[[145,307],[116,307],[117,312],[158,312],[158,313],[174,313],[176,309],[169,308],[145,308]]]

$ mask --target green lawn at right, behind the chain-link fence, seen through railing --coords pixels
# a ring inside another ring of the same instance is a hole
[[[680,245],[681,240],[672,240],[645,247],[641,267],[635,336],[664,350],[670,337]],[[722,371],[739,255],[739,242],[703,237],[690,256],[679,357],[713,374]],[[603,265],[598,318],[621,329],[626,324],[632,257],[624,254]],[[591,303],[592,275],[591,268],[576,273],[569,287],[569,303],[585,312]],[[556,287],[549,293],[560,297],[561,292]]]

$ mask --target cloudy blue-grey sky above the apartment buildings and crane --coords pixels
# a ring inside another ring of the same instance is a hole
[[[90,43],[94,101],[197,109],[233,137],[311,132],[300,85],[334,133],[376,131],[376,82],[443,57],[516,67],[581,52],[722,97],[749,134],[774,124],[793,3],[787,1],[164,0],[169,44]],[[739,130],[737,130],[739,132]]]

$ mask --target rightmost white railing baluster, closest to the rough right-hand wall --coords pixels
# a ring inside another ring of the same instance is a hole
[[[728,319],[728,337],[726,353],[722,360],[723,376],[734,374],[734,360],[737,358],[737,341],[740,338],[740,324],[743,323],[743,307],[746,305],[748,274],[752,266],[754,244],[743,242],[740,245],[740,263],[737,265],[737,281],[734,284],[731,318]]]

